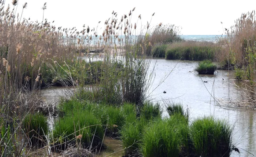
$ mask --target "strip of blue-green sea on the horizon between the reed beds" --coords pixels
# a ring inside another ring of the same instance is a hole
[[[217,39],[223,38],[224,35],[180,35],[184,40],[193,40],[198,42],[216,42]]]

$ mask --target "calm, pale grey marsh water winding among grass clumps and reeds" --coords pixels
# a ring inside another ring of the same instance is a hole
[[[208,115],[227,120],[234,125],[233,144],[239,149],[241,157],[256,155],[256,112],[237,107],[244,97],[232,70],[217,70],[215,75],[198,75],[195,71],[198,62],[152,59],[148,72],[152,71],[154,65],[155,77],[149,89],[151,101],[159,102],[163,109],[163,102],[183,104],[184,108],[189,108],[190,122]],[[51,102],[63,90],[41,90],[40,95]],[[163,112],[163,116],[167,116],[167,113]],[[110,140],[108,142],[111,143]],[[118,150],[121,148],[119,144],[116,147]],[[111,156],[120,156],[120,153]],[[239,154],[233,151],[231,157],[239,157]]]

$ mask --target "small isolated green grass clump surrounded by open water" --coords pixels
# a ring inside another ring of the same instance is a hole
[[[199,74],[214,74],[214,71],[217,69],[217,66],[213,64],[210,60],[204,60],[198,64],[198,67],[195,69]]]

